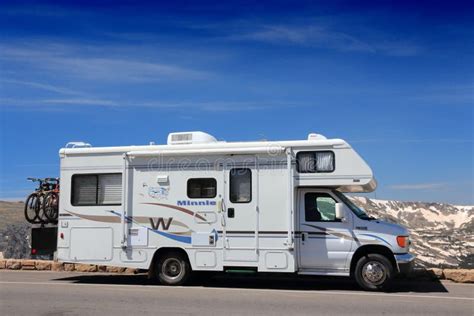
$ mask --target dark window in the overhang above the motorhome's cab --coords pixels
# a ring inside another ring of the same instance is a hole
[[[296,155],[296,164],[300,173],[333,172],[335,169],[334,152],[299,152]]]

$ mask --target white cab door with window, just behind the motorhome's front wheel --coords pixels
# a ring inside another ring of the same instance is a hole
[[[354,243],[352,214],[336,219],[339,201],[330,190],[300,190],[298,202],[300,268],[343,272]]]

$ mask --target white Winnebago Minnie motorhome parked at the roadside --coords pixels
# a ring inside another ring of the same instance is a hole
[[[404,227],[344,196],[376,182],[342,139],[230,143],[181,132],[167,145],[68,147],[60,261],[147,269],[168,285],[238,267],[352,276],[378,290],[414,260]]]

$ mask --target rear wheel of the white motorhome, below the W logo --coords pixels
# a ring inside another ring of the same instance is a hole
[[[191,274],[191,266],[186,256],[170,251],[157,260],[155,273],[163,285],[182,285]]]

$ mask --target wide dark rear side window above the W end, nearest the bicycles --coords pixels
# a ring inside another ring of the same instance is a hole
[[[72,205],[120,205],[121,202],[122,174],[75,174],[72,176]]]

